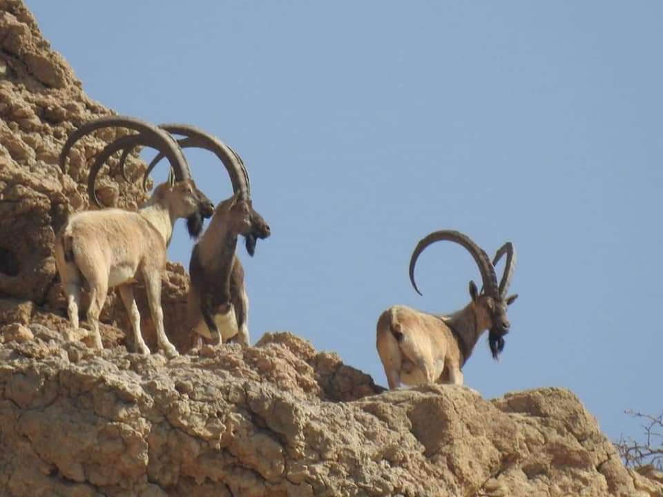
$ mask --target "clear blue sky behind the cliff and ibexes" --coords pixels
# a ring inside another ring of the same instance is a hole
[[[242,155],[273,235],[243,246],[255,342],[292,331],[385,384],[375,322],[453,311],[479,273],[420,237],[459,229],[519,264],[490,398],[568,387],[611,438],[661,402],[663,3],[28,0],[88,95]],[[220,164],[191,155],[215,202]],[[165,168],[163,168],[165,169]],[[161,177],[165,173],[160,172]],[[173,260],[188,264],[180,225]]]

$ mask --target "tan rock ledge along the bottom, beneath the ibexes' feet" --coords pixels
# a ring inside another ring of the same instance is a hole
[[[7,496],[662,496],[573,393],[382,391],[289,333],[166,361],[0,346]]]

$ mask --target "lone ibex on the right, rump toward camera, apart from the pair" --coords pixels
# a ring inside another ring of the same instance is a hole
[[[450,315],[436,315],[393,306],[382,313],[377,324],[377,349],[387,375],[390,389],[401,382],[407,385],[423,383],[463,384],[461,368],[472,354],[481,334],[490,329],[489,343],[493,358],[504,347],[503,336],[510,323],[507,307],[518,295],[506,296],[515,269],[513,245],[504,244],[491,264],[486,252],[470,238],[458,231],[435,231],[416,245],[410,258],[410,281],[414,281],[414,266],[423,250],[434,242],[448,240],[465,247],[479,266],[483,291],[470,281],[470,303]],[[507,254],[506,267],[499,286],[494,265]]]

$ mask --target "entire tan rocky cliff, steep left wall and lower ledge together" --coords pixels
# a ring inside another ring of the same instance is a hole
[[[565,390],[385,392],[289,333],[144,358],[126,351],[112,296],[108,348],[68,341],[55,233],[88,207],[88,160],[117,132],[84,139],[66,174],[57,156],[108,113],[23,3],[0,0],[0,496],[663,496],[663,478],[625,469]],[[144,163],[128,166],[133,183],[111,161],[106,205],[145,199]],[[187,287],[170,264],[165,323],[180,351]]]

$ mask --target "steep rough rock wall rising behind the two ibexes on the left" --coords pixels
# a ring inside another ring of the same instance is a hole
[[[89,207],[91,159],[126,130],[102,130],[82,139],[70,153],[66,174],[60,171],[58,156],[79,124],[108,114],[110,110],[87,97],[70,66],[50,49],[23,3],[0,0],[0,324],[24,324],[43,311],[65,315],[53,257],[55,234],[70,213]],[[130,157],[127,172],[133,182],[127,184],[115,167],[117,158],[111,159],[111,173],[100,175],[97,195],[106,206],[135,209],[146,199],[139,181],[145,164],[137,155]],[[170,264],[165,280],[166,333],[184,351],[189,339],[180,330],[188,277],[182,266]],[[154,346],[141,288],[137,301],[145,317],[146,342]],[[127,329],[128,319],[115,293],[109,295],[101,318],[115,325],[104,327],[106,343],[122,342],[120,330]]]

